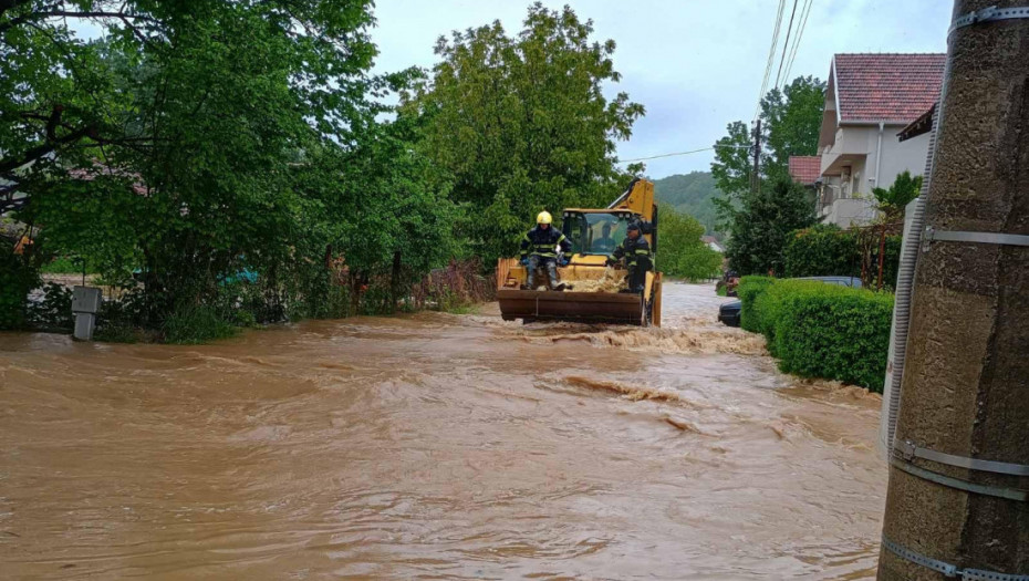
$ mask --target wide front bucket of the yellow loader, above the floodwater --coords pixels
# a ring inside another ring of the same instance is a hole
[[[505,321],[646,324],[640,294],[500,289],[497,300]]]

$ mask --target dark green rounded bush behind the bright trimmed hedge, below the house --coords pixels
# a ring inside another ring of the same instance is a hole
[[[786,246],[784,274],[860,277],[858,237],[835,225],[817,225],[791,232]]]

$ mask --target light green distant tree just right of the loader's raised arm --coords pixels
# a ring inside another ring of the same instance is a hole
[[[721,253],[711,250],[700,236],[704,227],[695,218],[664,207],[658,215],[657,268],[665,274],[706,280],[721,270]]]

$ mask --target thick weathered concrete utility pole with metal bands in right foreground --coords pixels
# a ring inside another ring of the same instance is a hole
[[[1029,0],[955,2],[939,115],[879,579],[1020,581],[1029,579]]]

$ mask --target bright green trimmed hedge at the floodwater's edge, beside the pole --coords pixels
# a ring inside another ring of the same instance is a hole
[[[882,391],[892,294],[807,280],[747,287],[750,312],[744,303],[742,321],[765,334],[781,371]]]

